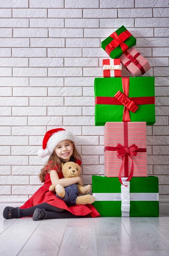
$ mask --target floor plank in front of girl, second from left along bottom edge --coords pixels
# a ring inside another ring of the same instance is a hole
[[[67,222],[68,219],[42,220],[18,256],[56,256]]]

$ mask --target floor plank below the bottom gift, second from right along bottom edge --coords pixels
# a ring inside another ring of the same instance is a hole
[[[138,255],[121,218],[96,218],[95,229],[99,256]]]

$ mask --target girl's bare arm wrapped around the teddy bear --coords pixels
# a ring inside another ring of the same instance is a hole
[[[59,179],[56,171],[50,170],[50,171],[48,171],[48,173],[50,173],[52,185],[54,185],[54,186],[56,186],[57,184],[60,184],[63,187],[66,187],[66,186],[70,186],[74,183],[79,183],[81,186],[83,186],[83,181],[80,177]]]

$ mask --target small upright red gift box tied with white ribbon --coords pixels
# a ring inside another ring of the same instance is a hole
[[[103,77],[121,77],[120,59],[103,59]]]

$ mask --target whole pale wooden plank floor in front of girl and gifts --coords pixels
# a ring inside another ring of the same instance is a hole
[[[169,256],[169,216],[5,220],[0,256]]]

